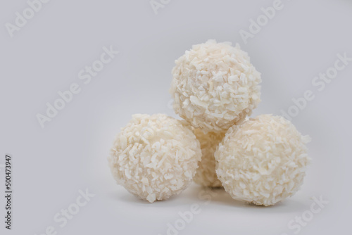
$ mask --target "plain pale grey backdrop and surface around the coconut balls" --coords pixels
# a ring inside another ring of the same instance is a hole
[[[299,234],[350,234],[352,63],[323,91],[313,77],[334,65],[337,53],[352,57],[352,1],[283,0],[248,44],[239,30],[272,1],[171,1],[153,12],[149,0],[50,1],[10,37],[6,23],[26,1],[0,3],[0,153],[13,155],[13,229],[1,234],[166,234],[178,212],[198,203],[201,212],[180,234],[294,234],[288,223],[310,209],[311,197],[329,203]],[[192,185],[169,201],[146,203],[115,184],[107,156],[115,134],[134,113],[166,113],[174,61],[192,44],[217,39],[238,42],[262,73],[262,103],[253,115],[280,114],[307,89],[315,99],[292,122],[309,134],[313,163],[301,191],[275,206],[239,203],[222,191],[207,205]],[[77,73],[99,59],[103,46],[120,53],[91,83]],[[58,91],[80,84],[44,129],[37,113]],[[1,169],[1,189],[4,169]],[[75,203],[79,190],[95,196],[61,228],[54,215]],[[3,195],[1,193],[1,195]]]

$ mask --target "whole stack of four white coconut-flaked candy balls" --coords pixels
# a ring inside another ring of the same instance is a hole
[[[175,63],[170,93],[183,120],[132,115],[108,157],[118,184],[151,203],[192,181],[256,205],[296,193],[310,161],[310,138],[279,116],[246,118],[260,102],[261,82],[248,54],[209,40]]]

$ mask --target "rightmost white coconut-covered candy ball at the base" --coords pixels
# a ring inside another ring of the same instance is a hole
[[[215,151],[216,172],[232,198],[274,205],[303,183],[309,141],[288,120],[259,115],[226,132]]]

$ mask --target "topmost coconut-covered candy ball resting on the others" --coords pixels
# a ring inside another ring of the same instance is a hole
[[[260,103],[260,73],[239,44],[208,40],[175,61],[170,93],[181,118],[203,132],[225,132]]]

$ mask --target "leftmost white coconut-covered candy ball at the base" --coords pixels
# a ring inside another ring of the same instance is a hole
[[[186,189],[199,160],[201,148],[191,129],[163,114],[133,115],[108,158],[118,184],[151,203]]]

